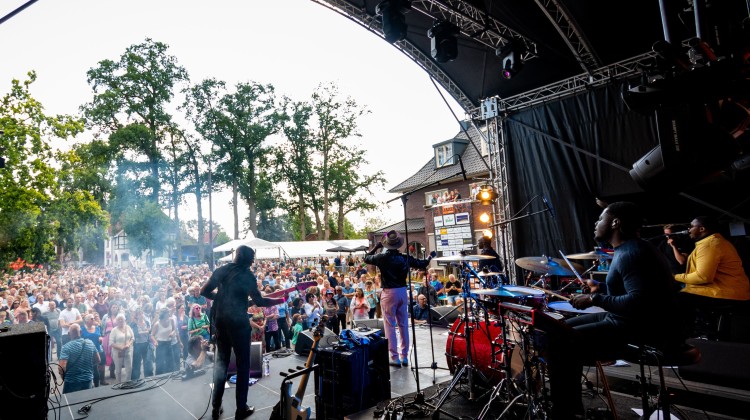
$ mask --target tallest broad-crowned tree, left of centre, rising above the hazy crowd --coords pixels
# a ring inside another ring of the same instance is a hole
[[[172,120],[167,108],[175,86],[188,80],[167,49],[146,38],[128,47],[119,61],[100,61],[86,73],[94,98],[82,106],[89,124],[110,134],[110,141],[130,152],[127,158],[138,162],[145,157],[145,187],[154,202],[160,193],[161,143]]]

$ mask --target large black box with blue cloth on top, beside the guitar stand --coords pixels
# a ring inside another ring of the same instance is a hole
[[[343,419],[391,398],[388,340],[371,338],[352,349],[319,347],[315,363],[316,418]]]

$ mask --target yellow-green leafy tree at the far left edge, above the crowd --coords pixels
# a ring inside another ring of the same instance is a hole
[[[54,259],[57,221],[50,209],[62,195],[51,166],[50,144],[83,130],[80,119],[44,113],[29,91],[35,80],[34,72],[23,82],[13,80],[0,101],[0,147],[5,158],[5,168],[0,169],[0,261]]]

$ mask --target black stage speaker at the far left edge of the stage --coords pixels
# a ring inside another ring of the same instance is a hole
[[[47,418],[47,342],[41,322],[0,328],[0,419]]]

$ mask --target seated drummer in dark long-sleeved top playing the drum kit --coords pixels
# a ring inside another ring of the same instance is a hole
[[[590,294],[571,298],[576,309],[598,306],[607,312],[566,321],[573,334],[550,332],[548,363],[552,418],[583,418],[581,371],[584,362],[624,357],[628,344],[660,349],[674,344],[672,274],[664,256],[640,239],[643,219],[629,202],[610,204],[595,226],[595,239],[615,248],[606,283],[592,284]],[[672,324],[673,325],[673,324]]]

